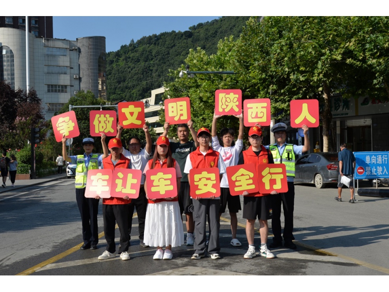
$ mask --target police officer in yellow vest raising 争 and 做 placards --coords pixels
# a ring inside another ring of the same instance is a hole
[[[82,145],[85,153],[82,155],[68,156],[66,153],[66,138],[62,138],[62,156],[65,161],[71,164],[77,164],[75,188],[76,200],[82,221],[82,237],[84,244],[80,247],[81,250],[97,249],[99,242],[97,213],[99,210],[99,200],[94,198],[85,198],[85,189],[87,186],[88,170],[99,169],[104,158],[108,156],[108,148],[106,146],[106,135],[101,134],[101,144],[104,154],[98,155],[92,153],[94,140],[92,138],[84,138]]]

